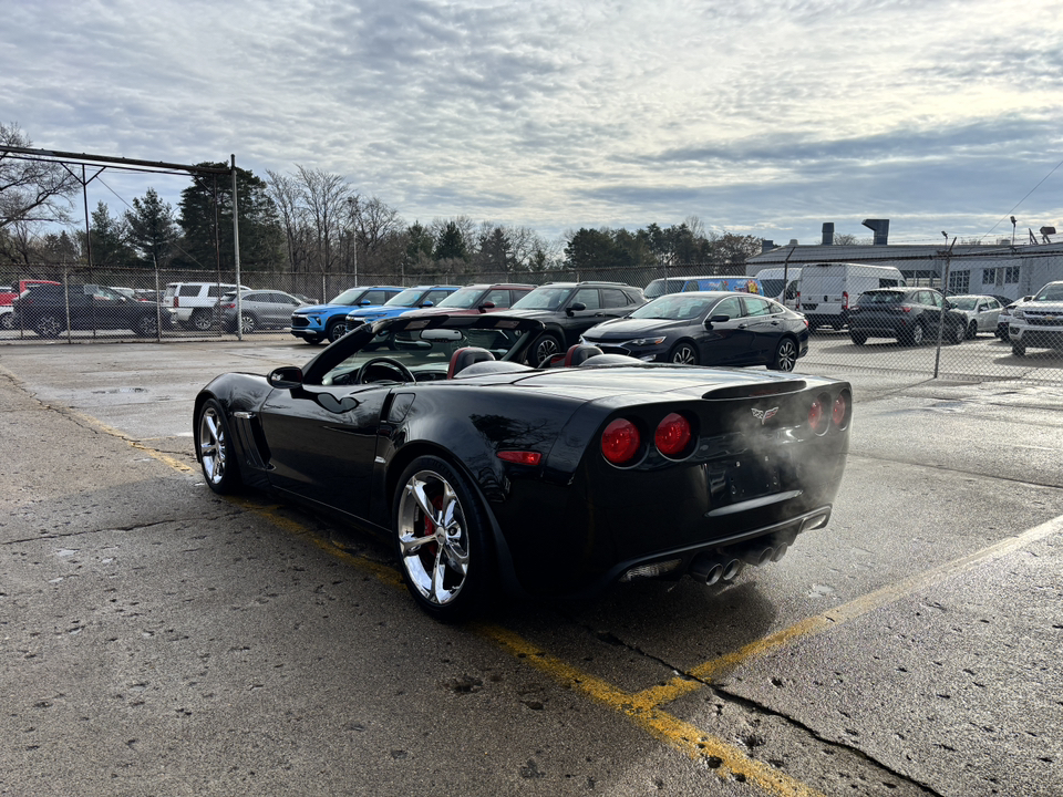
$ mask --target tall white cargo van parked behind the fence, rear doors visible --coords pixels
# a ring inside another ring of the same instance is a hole
[[[802,263],[796,309],[808,319],[808,329],[837,330],[848,323],[849,308],[864,291],[905,286],[904,276],[892,266]]]

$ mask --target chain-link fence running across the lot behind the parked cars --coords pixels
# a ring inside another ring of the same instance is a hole
[[[889,266],[889,263],[884,263]],[[900,263],[898,263],[900,265]],[[802,265],[795,265],[801,268]],[[809,266],[804,263],[806,273]],[[889,287],[867,280],[838,282],[823,280],[816,293],[801,290],[802,280],[791,286],[785,303],[797,306],[816,317],[808,354],[798,362],[821,373],[844,375],[850,371],[902,373],[912,379],[962,381],[1019,381],[1063,384],[1063,351],[1028,346],[1024,355],[1012,350],[1008,325],[1010,317],[1001,308],[1011,299],[1035,293],[1044,283],[1063,279],[1063,258],[1040,258],[1020,266],[995,267],[984,260],[952,258],[948,269],[899,269],[909,287],[940,290],[948,286],[949,300],[960,294],[995,297],[995,306],[982,311],[962,311],[963,329],[953,342],[953,313],[928,313],[922,306],[908,311],[921,317],[919,342],[915,335],[880,331],[859,341],[850,329],[850,314],[858,297],[870,288]],[[37,267],[0,271],[0,344],[62,341],[175,341],[175,340],[293,340],[288,332],[291,311],[299,303],[323,303],[355,284],[412,287],[419,284],[469,284],[599,280],[618,281],[644,288],[656,279],[668,279],[671,289],[680,289],[683,279],[741,276],[742,267],[702,263],[683,267],[639,269],[587,269],[519,273],[292,273],[245,272],[244,287],[260,293],[250,329],[236,329],[235,307],[225,294],[235,289],[236,277],[226,272],[87,269],[78,267]],[[948,275],[948,276],[946,276]],[[848,275],[852,277],[852,275]],[[30,299],[20,293],[34,287]],[[865,284],[867,282],[867,284]],[[51,284],[48,284],[51,283]],[[765,281],[766,284],[766,281]],[[812,287],[811,282],[807,283]],[[992,289],[992,290],[991,290]],[[287,299],[282,297],[288,297]],[[245,299],[247,297],[245,296]],[[773,297],[774,298],[774,297]],[[221,301],[219,301],[221,300]],[[798,304],[801,302],[801,304]],[[834,303],[837,319],[824,322],[825,307]],[[227,307],[228,304],[228,307]],[[811,306],[815,304],[813,309]],[[248,304],[249,307],[249,304]],[[920,309],[921,308],[921,309]],[[245,308],[246,310],[247,308]],[[267,312],[268,310],[268,312]],[[860,310],[857,310],[857,314]],[[925,317],[925,318],[923,318]],[[935,322],[935,318],[943,321]],[[946,323],[946,321],[948,323]],[[1047,321],[1045,323],[1053,323]],[[1063,328],[1063,320],[1060,321]],[[939,342],[940,337],[940,342]]]

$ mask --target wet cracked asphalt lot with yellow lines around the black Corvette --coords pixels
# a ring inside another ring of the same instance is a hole
[[[821,351],[828,528],[445,627],[386,545],[203,485],[195,392],[309,346],[0,349],[0,794],[1059,794],[1059,386]]]

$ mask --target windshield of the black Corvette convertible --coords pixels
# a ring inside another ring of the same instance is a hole
[[[465,323],[460,323],[465,321]],[[404,365],[419,382],[446,377],[451,356],[458,349],[486,349],[495,360],[508,360],[524,340],[527,322],[518,319],[487,317],[451,317],[444,325],[425,328],[427,321],[388,323],[375,338],[328,370],[321,384],[350,384],[359,369],[370,360],[385,358]],[[378,327],[376,329],[380,329]],[[352,335],[358,332],[352,333]]]

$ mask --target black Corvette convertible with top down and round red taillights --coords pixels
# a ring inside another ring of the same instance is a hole
[[[386,535],[440,619],[475,613],[498,588],[729,581],[826,525],[847,383],[590,345],[533,368],[541,330],[496,313],[400,317],[302,369],[218,376],[195,405],[206,482],[277,490]]]

